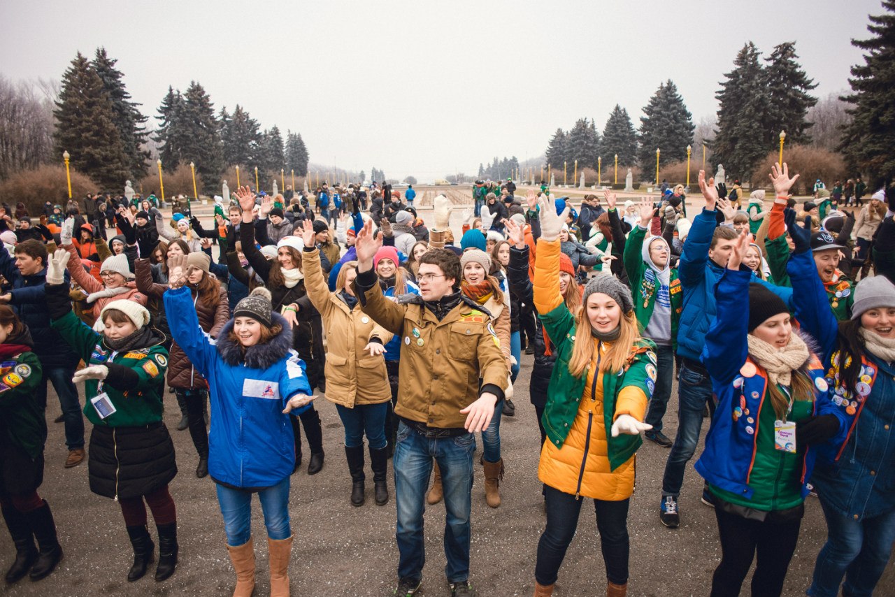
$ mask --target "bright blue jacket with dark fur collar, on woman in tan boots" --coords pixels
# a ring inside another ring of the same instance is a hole
[[[165,311],[175,342],[209,381],[211,477],[242,489],[283,481],[295,464],[292,425],[283,409],[290,397],[311,395],[304,362],[292,350],[292,331],[286,320],[272,313],[273,322],[283,331],[243,355],[229,338],[233,320],[221,329],[217,342],[202,331],[189,288],[167,291]]]

